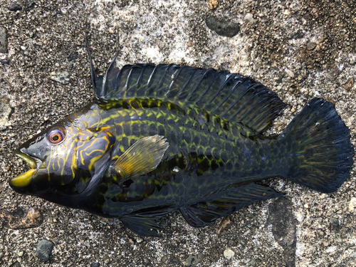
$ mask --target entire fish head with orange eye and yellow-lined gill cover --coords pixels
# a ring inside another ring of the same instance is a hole
[[[83,191],[98,166],[95,164],[108,161],[115,137],[107,128],[90,129],[80,125],[78,118],[67,118],[23,143],[14,154],[31,169],[9,179],[11,188],[39,197],[48,192]]]

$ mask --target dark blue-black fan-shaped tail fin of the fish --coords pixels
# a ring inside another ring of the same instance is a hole
[[[354,149],[350,130],[332,103],[313,98],[278,140],[291,142],[292,167],[286,178],[315,191],[335,192],[350,177]]]

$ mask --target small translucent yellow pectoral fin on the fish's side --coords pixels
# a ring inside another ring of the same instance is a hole
[[[145,137],[122,154],[112,167],[122,178],[135,178],[157,168],[169,147],[163,136]]]

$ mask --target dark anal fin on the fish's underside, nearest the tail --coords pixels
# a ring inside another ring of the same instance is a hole
[[[191,226],[202,227],[212,224],[216,219],[242,209],[248,204],[276,197],[283,197],[283,194],[276,192],[271,187],[248,184],[227,189],[219,193],[212,201],[184,206],[180,208],[180,211]]]

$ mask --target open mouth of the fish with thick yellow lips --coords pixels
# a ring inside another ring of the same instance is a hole
[[[27,172],[24,172],[23,174],[11,178],[9,180],[9,184],[11,185],[11,187],[26,187],[28,186],[28,184],[30,184],[33,175],[36,174],[38,169],[43,169],[45,167],[43,166],[43,162],[41,161],[41,159],[31,157],[20,151],[16,151],[14,154],[17,157],[23,159],[31,167],[31,169],[29,169]]]

